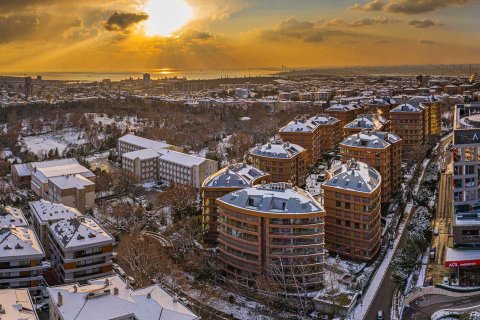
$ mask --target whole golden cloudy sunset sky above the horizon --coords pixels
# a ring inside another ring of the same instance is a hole
[[[480,0],[0,0],[5,72],[478,63]]]

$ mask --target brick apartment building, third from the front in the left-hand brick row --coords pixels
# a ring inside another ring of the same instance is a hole
[[[289,181],[304,186],[307,178],[306,151],[299,145],[276,140],[250,150],[251,163],[270,174],[272,182]]]

